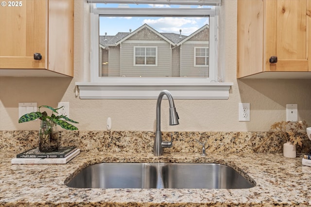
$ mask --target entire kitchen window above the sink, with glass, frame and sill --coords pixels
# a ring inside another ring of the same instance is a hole
[[[88,0],[91,81],[76,83],[80,97],[156,98],[167,89],[177,98],[228,98],[232,83],[217,69],[219,1]]]

